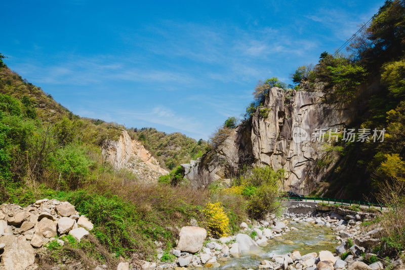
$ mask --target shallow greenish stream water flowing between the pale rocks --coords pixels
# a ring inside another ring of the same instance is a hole
[[[216,269],[256,269],[263,259],[271,258],[272,254],[285,254],[298,250],[301,255],[322,250],[335,251],[338,246],[333,235],[333,230],[326,226],[314,226],[310,223],[298,223],[290,221],[289,227],[296,227],[298,230],[291,230],[291,232],[269,240],[269,245],[262,248],[263,253],[258,256],[245,256],[240,258],[231,257],[225,262],[221,262],[221,266]],[[212,269],[212,268],[211,268]]]

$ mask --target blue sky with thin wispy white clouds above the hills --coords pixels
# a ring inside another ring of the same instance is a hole
[[[3,1],[0,53],[75,114],[207,139],[383,2]]]

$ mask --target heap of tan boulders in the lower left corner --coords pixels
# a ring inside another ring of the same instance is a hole
[[[22,208],[17,204],[0,206],[0,269],[34,269],[35,249],[70,235],[80,241],[93,229],[92,222],[80,216],[68,202],[43,199]]]

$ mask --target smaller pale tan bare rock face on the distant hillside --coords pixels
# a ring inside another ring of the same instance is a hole
[[[114,169],[130,170],[143,181],[156,181],[160,175],[169,173],[160,167],[159,162],[139,141],[131,139],[126,130],[117,141],[105,141],[102,153]]]

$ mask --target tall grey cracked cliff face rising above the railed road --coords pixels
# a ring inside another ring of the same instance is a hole
[[[363,87],[357,96],[370,95],[376,87]],[[284,169],[284,189],[309,194],[334,169],[340,153],[328,135],[316,140],[317,130],[342,133],[366,105],[365,98],[335,102],[324,92],[272,88],[263,107],[242,122],[216,152],[183,164],[185,177],[194,186],[232,178],[242,163]],[[302,137],[300,137],[302,136]],[[335,137],[333,137],[335,138]]]

